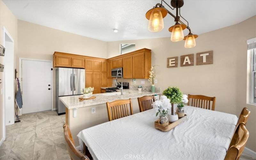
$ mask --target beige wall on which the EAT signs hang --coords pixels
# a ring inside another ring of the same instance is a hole
[[[119,54],[119,44],[135,43],[136,50],[152,50],[152,65],[159,65],[156,68],[156,87],[164,90],[168,86],[178,86],[185,94],[215,96],[215,110],[237,116],[243,107],[248,107],[251,116],[246,125],[250,132],[247,147],[256,151],[256,106],[246,104],[246,40],[256,37],[255,29],[256,16],[239,24],[199,35],[196,47],[191,49],[184,48],[185,41],[174,43],[170,37],[108,42],[108,58]],[[211,50],[211,65],[180,67],[179,61],[178,68],[166,67],[168,57]]]

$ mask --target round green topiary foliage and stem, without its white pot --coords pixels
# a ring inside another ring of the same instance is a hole
[[[183,98],[183,94],[178,87],[168,87],[164,90],[163,95],[165,95],[172,103],[172,115],[174,115],[173,104],[179,104]]]

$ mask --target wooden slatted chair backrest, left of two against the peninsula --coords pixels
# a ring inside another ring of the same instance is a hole
[[[130,109],[128,105],[130,105]],[[132,99],[107,102],[107,110],[108,110],[108,121],[130,116],[133,114]]]

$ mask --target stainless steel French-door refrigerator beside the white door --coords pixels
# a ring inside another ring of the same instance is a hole
[[[58,115],[66,112],[65,105],[59,100],[62,96],[79,95],[85,87],[85,69],[56,69],[56,111]]]

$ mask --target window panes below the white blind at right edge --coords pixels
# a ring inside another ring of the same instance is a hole
[[[251,50],[252,102],[256,103],[256,49]]]

